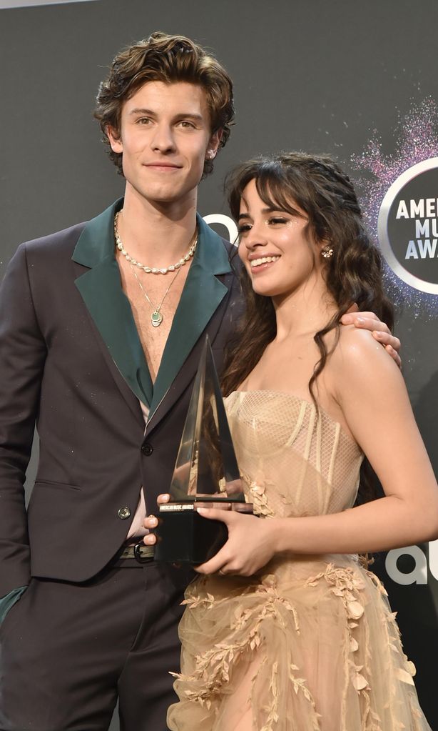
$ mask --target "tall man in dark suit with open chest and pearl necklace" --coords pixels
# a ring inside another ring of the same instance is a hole
[[[142,523],[170,482],[204,336],[220,363],[239,314],[229,244],[196,217],[233,118],[224,69],[153,34],[115,58],[96,117],[124,199],[20,246],[1,287],[3,731],[103,731],[117,698],[124,730],[166,728],[188,573],[155,564]]]

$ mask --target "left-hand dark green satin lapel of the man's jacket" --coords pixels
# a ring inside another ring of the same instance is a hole
[[[143,404],[150,406],[152,380],[114,257],[112,227],[122,202],[107,208],[82,231],[72,259],[90,269],[75,284],[126,383]]]

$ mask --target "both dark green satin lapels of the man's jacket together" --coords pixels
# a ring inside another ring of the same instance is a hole
[[[122,205],[116,201],[82,231],[72,259],[90,269],[75,284],[112,360],[137,398],[150,406],[151,416],[228,291],[215,275],[231,267],[222,240],[198,216],[198,246],[153,385],[114,256],[113,221]]]

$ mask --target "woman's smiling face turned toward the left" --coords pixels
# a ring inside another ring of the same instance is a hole
[[[239,257],[259,295],[290,295],[320,276],[323,244],[315,243],[307,214],[293,200],[291,208],[296,213],[266,205],[254,180],[242,193]]]

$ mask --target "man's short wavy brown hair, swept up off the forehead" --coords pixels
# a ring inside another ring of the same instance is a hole
[[[234,119],[233,85],[227,72],[204,48],[185,36],[153,33],[115,56],[110,74],[101,82],[94,116],[99,121],[110,158],[123,175],[122,153],[111,149],[107,128],[120,134],[123,104],[147,81],[178,81],[204,88],[210,112],[211,132],[222,130],[220,147],[230,136]],[[212,172],[213,161],[204,163],[204,176]]]

